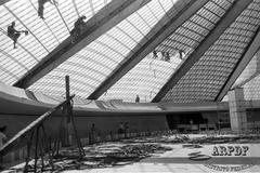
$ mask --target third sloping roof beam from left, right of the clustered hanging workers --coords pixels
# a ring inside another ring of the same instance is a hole
[[[200,42],[197,49],[187,57],[181,67],[171,76],[167,83],[161,88],[152,102],[159,102],[171,90],[178,81],[186,75],[192,66],[199,61],[204,53],[219,39],[225,29],[235,21],[235,18],[251,3],[251,0],[237,0],[227,10],[223,17],[216,24],[210,34]]]

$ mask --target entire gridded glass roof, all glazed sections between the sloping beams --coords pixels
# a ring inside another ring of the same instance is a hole
[[[38,0],[11,0],[0,5],[0,81],[14,84],[69,37],[69,30],[79,16],[86,15],[89,19],[110,1],[57,0],[57,5],[44,5],[46,19],[38,16]],[[148,40],[146,35],[162,16],[170,19],[191,2],[182,0],[176,3],[177,1],[152,0],[30,85],[29,90],[56,96],[64,95],[64,77],[69,75],[72,93],[87,98],[115,69],[128,61],[133,48],[142,48],[140,41]],[[210,35],[211,29],[234,1],[209,0],[172,35],[158,43],[154,52],[146,55],[100,99],[133,102],[139,94],[141,102],[151,102],[205,37]],[[253,0],[166,94],[164,101],[185,103],[214,99],[259,27],[259,4],[260,0]],[[14,21],[17,30],[29,31],[28,36],[20,37],[18,49],[13,49],[13,41],[6,36],[6,28]],[[259,84],[258,78],[260,77],[256,76],[244,85],[248,92],[255,91]]]

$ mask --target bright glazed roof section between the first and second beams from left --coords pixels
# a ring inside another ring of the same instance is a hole
[[[64,93],[64,76],[70,76],[72,93],[88,97],[172,8],[176,1],[153,0],[105,35],[91,42],[29,89],[50,94]],[[183,2],[184,3],[184,2]]]

